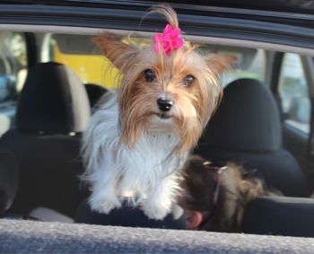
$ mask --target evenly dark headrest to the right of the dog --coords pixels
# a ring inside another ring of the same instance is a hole
[[[230,150],[270,152],[280,149],[281,123],[271,92],[254,79],[230,83],[203,138],[208,145]]]

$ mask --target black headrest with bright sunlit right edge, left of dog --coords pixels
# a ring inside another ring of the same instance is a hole
[[[85,88],[72,69],[53,62],[31,68],[17,107],[18,129],[82,132],[90,115]]]

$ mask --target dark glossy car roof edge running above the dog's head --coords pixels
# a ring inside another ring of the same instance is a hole
[[[281,1],[283,0],[274,0],[275,3]],[[21,28],[23,24],[28,25],[29,28],[31,25],[36,25],[38,28],[48,25],[50,28],[63,26],[111,31],[155,32],[160,31],[164,26],[164,19],[157,14],[145,14],[152,4],[157,3],[160,2],[4,0],[0,2],[0,29],[1,26],[7,29],[8,24],[17,24],[18,28]],[[283,45],[293,52],[301,52],[303,49],[299,50],[299,48],[305,48],[309,53],[309,50],[314,49],[313,14],[287,13],[284,12],[284,8],[280,12],[266,10],[266,7],[257,9],[259,6],[266,6],[265,4],[251,4],[248,6],[252,8],[256,6],[256,9],[249,9],[249,7],[244,9],[244,7],[241,8],[242,5],[231,4],[231,1],[222,1],[222,3],[219,4],[214,0],[207,0],[205,4],[197,0],[193,1],[193,4],[188,1],[172,0],[170,2],[179,13],[181,30],[188,36],[202,37],[206,41],[208,38],[215,39],[219,44],[230,44],[230,40],[233,39],[237,46],[243,47],[245,47],[243,41],[253,41],[265,44],[258,47],[269,48],[268,46],[271,45]],[[266,3],[269,3],[269,0],[266,0]],[[82,31],[80,29],[80,33]],[[223,39],[228,41],[223,41]],[[283,51],[287,50],[284,48]],[[314,55],[312,51],[310,54]]]

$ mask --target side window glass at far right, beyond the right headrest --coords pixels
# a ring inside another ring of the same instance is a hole
[[[282,115],[283,146],[292,153],[306,173],[310,172],[312,66],[310,57],[277,53],[272,84]]]

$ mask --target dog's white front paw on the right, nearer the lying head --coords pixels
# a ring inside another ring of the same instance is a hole
[[[148,201],[142,206],[144,214],[153,220],[162,220],[166,215],[171,212],[171,203],[170,202],[154,202]]]

